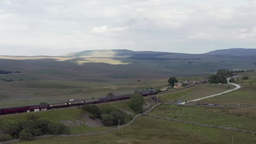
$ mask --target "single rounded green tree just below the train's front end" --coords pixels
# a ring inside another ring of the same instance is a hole
[[[143,112],[143,105],[145,104],[145,100],[142,95],[140,94],[132,94],[130,99],[130,107],[132,110],[142,113]]]

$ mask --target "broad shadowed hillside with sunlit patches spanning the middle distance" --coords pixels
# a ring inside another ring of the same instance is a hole
[[[114,82],[214,74],[218,69],[256,69],[256,57],[95,50],[61,57],[0,56],[0,69],[21,71],[0,79]]]

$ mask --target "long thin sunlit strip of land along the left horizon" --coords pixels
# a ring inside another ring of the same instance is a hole
[[[14,56],[0,56],[0,59],[14,59],[14,60],[27,60],[27,59],[56,59],[56,61],[67,61],[74,59],[72,57],[14,57]]]

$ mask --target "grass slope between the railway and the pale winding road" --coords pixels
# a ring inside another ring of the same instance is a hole
[[[198,98],[207,97],[212,94],[217,94],[221,92],[228,91],[232,88],[235,88],[233,85],[218,85],[218,84],[204,84],[198,85],[196,87],[191,87],[188,89],[184,89],[182,91],[168,93],[159,95],[159,98],[164,102],[174,102],[174,100],[185,101],[185,100],[193,100]]]

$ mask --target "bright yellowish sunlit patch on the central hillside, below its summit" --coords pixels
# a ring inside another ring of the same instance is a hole
[[[75,61],[79,65],[84,63],[108,63],[108,64],[129,64],[111,58],[84,58],[84,61]]]

